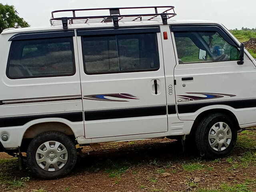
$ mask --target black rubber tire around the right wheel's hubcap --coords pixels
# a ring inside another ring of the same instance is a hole
[[[210,146],[208,140],[210,129],[214,124],[218,122],[226,123],[230,127],[232,133],[231,142],[229,146],[226,147],[226,149],[224,149],[223,151],[214,150]],[[234,123],[234,120],[232,120],[232,118],[230,118],[229,116],[222,113],[214,113],[208,115],[207,117],[201,120],[196,130],[195,138],[196,146],[202,157],[206,157],[209,159],[222,158],[228,156],[234,149],[237,140],[237,128]]]

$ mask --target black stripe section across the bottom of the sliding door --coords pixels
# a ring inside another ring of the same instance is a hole
[[[166,106],[123,108],[84,112],[86,121],[156,115],[166,115]]]

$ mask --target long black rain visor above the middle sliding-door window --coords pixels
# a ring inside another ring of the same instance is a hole
[[[160,28],[158,27],[144,27],[144,28],[120,28],[120,29],[79,29],[77,30],[77,36],[97,36],[97,35],[118,35],[118,34],[138,34],[138,33],[158,33]]]

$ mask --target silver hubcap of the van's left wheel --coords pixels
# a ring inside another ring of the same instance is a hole
[[[68,161],[66,147],[57,141],[47,141],[36,151],[36,162],[45,171],[58,171]]]

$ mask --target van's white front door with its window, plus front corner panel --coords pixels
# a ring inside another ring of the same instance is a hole
[[[256,70],[248,56],[238,65],[238,45],[218,26],[177,26],[172,32],[178,56],[174,77],[179,118],[194,120],[200,111],[218,105],[235,111],[240,124],[252,122],[255,110],[250,115],[244,112],[251,107],[244,99],[256,94]]]

